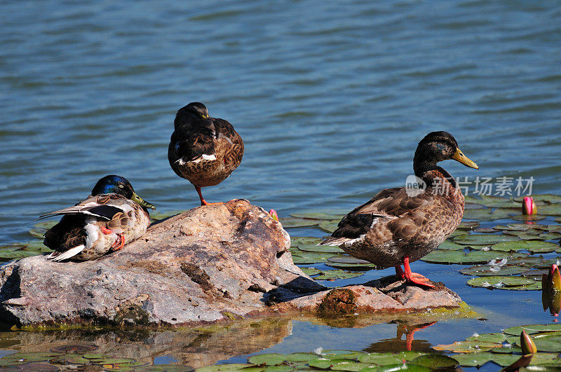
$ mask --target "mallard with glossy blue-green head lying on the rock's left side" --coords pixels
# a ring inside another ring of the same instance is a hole
[[[88,261],[123,248],[146,233],[147,208],[156,209],[135,193],[125,177],[103,177],[86,200],[39,217],[62,215],[45,233],[43,244],[54,250],[48,259]]]

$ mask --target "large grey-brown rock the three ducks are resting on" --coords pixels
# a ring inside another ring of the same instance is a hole
[[[204,324],[278,313],[456,308],[457,294],[394,277],[328,290],[292,262],[280,223],[247,200],[197,207],[96,261],[33,256],[0,268],[0,319],[58,323]]]

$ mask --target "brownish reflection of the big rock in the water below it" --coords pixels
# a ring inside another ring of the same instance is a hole
[[[89,329],[13,331],[0,333],[0,348],[41,352],[65,345],[95,345],[95,352],[153,364],[175,359],[194,368],[209,366],[234,355],[251,354],[280,343],[292,333],[289,319],[264,319],[199,329]]]

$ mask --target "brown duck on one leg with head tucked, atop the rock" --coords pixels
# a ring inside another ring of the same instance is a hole
[[[168,147],[173,171],[195,186],[201,205],[201,187],[224,181],[240,165],[243,141],[227,120],[211,118],[206,106],[191,102],[177,111]]]

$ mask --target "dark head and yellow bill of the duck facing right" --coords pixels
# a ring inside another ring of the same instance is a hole
[[[421,139],[415,151],[413,170],[418,177],[428,170],[436,168],[436,163],[442,160],[457,160],[460,163],[479,169],[478,165],[470,160],[458,147],[454,136],[448,132],[431,132]]]

